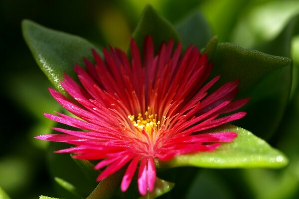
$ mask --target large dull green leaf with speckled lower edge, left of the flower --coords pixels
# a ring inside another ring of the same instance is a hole
[[[92,59],[91,49],[96,47],[81,37],[46,28],[30,20],[22,22],[22,31],[41,70],[60,92],[66,94],[60,85],[63,73],[76,79],[74,65],[83,66],[83,57]]]

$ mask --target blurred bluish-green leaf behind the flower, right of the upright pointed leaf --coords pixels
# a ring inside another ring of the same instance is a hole
[[[189,45],[203,48],[212,38],[212,31],[200,12],[196,12],[176,26],[184,48]]]

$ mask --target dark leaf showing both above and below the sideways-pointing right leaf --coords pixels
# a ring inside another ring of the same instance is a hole
[[[257,46],[257,49],[277,56],[290,56],[291,42],[294,34],[299,33],[299,16],[292,18],[283,31],[272,41]],[[279,47],[278,47],[279,46]],[[294,65],[295,62],[293,62]],[[252,100],[245,107],[248,115],[236,124],[255,132],[258,136],[267,139],[277,130],[284,115],[290,97],[292,79],[296,79],[298,72],[291,64],[267,75],[249,93]],[[293,83],[294,94],[297,85]],[[293,95],[292,95],[293,96]],[[252,125],[255,123],[255,125]],[[277,131],[277,133],[280,133]]]

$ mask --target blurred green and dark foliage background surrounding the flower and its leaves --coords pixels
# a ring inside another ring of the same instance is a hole
[[[50,97],[47,88],[51,85],[22,38],[21,21],[31,19],[97,46],[111,44],[125,50],[147,3],[176,27],[190,14],[200,14],[220,42],[254,49],[275,39],[299,14],[298,0],[1,0],[0,187],[12,199],[58,196],[48,172],[48,143],[33,137],[50,132],[51,121],[43,113],[59,110],[59,106]],[[288,38],[295,65],[299,63],[297,33]],[[277,171],[201,170],[195,174],[188,199],[299,198],[299,92],[294,68],[289,105],[274,133],[264,137],[291,156],[290,165]],[[254,127],[248,130],[255,133]]]

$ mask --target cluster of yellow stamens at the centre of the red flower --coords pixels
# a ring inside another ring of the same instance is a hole
[[[157,114],[149,114],[150,107],[148,111],[142,115],[138,113],[137,116],[128,115],[128,118],[139,131],[146,131],[148,135],[151,135],[152,130],[156,131],[159,128],[160,121],[157,121]]]

